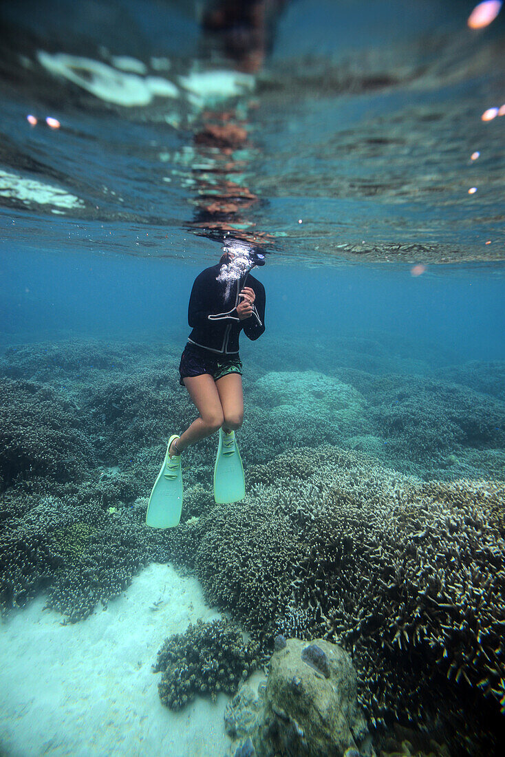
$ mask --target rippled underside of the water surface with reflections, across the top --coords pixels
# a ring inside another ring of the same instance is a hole
[[[503,123],[482,120],[502,105],[500,15],[472,30],[465,4],[435,0],[43,8],[2,8],[18,244],[37,228],[42,246],[192,256],[185,227],[301,260],[503,259]]]

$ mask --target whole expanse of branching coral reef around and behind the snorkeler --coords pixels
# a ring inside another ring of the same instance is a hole
[[[248,495],[214,503],[215,440],[184,455],[182,522],[144,525],[167,438],[195,416],[179,345],[67,341],[0,357],[0,608],[74,622],[172,561],[250,631],[351,654],[369,724],[495,753],[505,705],[505,403],[494,363],[374,335],[304,365],[245,357]],[[244,357],[244,356],[243,356]],[[389,368],[389,370],[387,370]],[[459,751],[458,751],[459,750]],[[451,751],[452,753],[452,751]]]

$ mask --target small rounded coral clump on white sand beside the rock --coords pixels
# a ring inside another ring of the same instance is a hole
[[[197,695],[234,692],[254,671],[258,646],[245,643],[226,621],[189,624],[184,634],[168,637],[157,653],[154,673],[162,672],[160,699],[170,709],[181,709]]]

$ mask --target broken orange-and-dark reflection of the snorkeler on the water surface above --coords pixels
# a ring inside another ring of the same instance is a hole
[[[215,35],[226,55],[242,70],[257,71],[263,61],[273,24],[285,0],[210,0],[201,25],[208,34],[211,58],[216,59]],[[214,36],[214,40],[210,38]],[[256,230],[252,215],[260,198],[248,187],[248,163],[257,152],[249,134],[248,111],[258,101],[243,101],[237,111],[206,110],[195,124],[195,160],[191,168],[195,215],[190,228],[199,235],[235,239],[251,245],[267,245],[272,236]]]

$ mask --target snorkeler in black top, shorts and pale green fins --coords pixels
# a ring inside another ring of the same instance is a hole
[[[242,330],[252,340],[265,330],[265,288],[250,273],[264,263],[263,255],[230,241],[220,262],[202,271],[193,283],[188,309],[192,332],[182,352],[179,383],[189,391],[199,415],[182,435],[170,437],[149,498],[147,525],[170,528],[179,524],[181,453],[218,429],[214,499],[229,503],[245,497],[244,470],[235,440],[244,416],[238,338]]]

